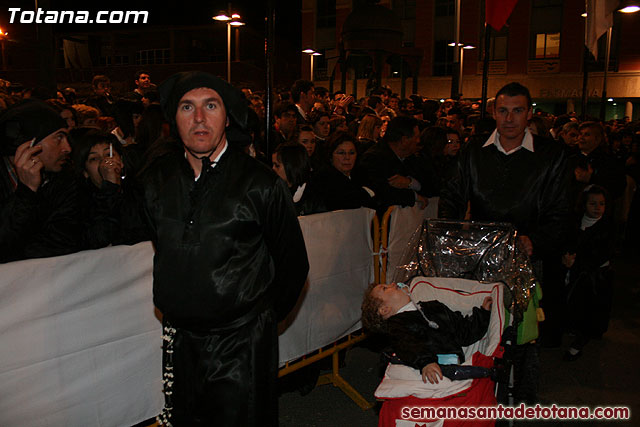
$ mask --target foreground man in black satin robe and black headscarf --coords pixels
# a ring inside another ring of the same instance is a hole
[[[174,149],[142,177],[163,314],[161,425],[277,424],[276,325],[308,273],[289,190],[233,144],[241,93],[210,74],[159,87]]]

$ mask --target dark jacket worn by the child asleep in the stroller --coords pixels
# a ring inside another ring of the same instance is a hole
[[[471,315],[463,316],[439,301],[419,304],[427,318],[438,324],[438,329],[430,327],[417,310],[389,317],[387,324],[393,352],[403,364],[418,370],[437,362],[438,354],[457,354],[463,363],[462,347],[484,336],[491,313],[474,307]]]

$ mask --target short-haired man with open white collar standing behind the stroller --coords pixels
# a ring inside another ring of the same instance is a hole
[[[486,142],[474,141],[462,151],[454,177],[441,193],[439,217],[463,219],[469,203],[473,220],[512,223],[534,267],[542,267],[537,273],[544,271],[538,277],[545,323],[556,322],[548,330],[559,332],[564,287],[558,272],[569,218],[566,153],[560,143],[529,132],[532,107],[526,87],[506,85],[498,91],[494,108],[496,130]],[[536,349],[520,350],[530,354],[523,355],[522,360],[527,360],[524,377],[517,371],[515,397],[534,402]]]

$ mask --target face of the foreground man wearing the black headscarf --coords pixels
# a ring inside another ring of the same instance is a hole
[[[185,93],[178,102],[176,125],[184,145],[198,157],[222,150],[227,110],[218,92],[201,87]]]

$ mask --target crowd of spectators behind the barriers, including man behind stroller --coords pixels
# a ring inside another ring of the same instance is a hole
[[[145,212],[145,197],[154,200],[141,177],[163,181],[158,159],[200,157],[171,137],[180,125],[167,111],[171,94],[147,71],[132,80],[134,90],[117,96],[95,76],[84,98],[1,82],[0,262],[157,237],[161,214]],[[242,89],[235,110],[221,95],[227,114],[246,111],[227,120],[229,145],[273,169],[297,215],[424,208],[440,196],[441,217],[514,223],[543,277],[543,344],[559,345],[569,329],[565,359],[575,360],[606,332],[610,261],[637,238],[640,122],[534,111],[526,88],[505,88],[482,105],[401,99],[389,88],[355,99],[298,80],[278,94],[269,129],[261,94]],[[197,180],[196,170],[188,174]]]

